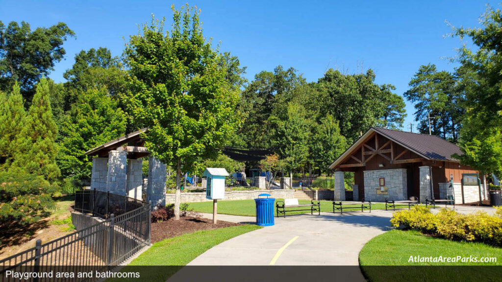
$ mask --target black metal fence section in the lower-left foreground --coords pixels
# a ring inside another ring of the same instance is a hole
[[[48,272],[54,266],[62,272],[111,269],[151,243],[150,222],[150,204],[144,203],[118,216],[110,214],[106,220],[50,242],[42,244],[37,240],[35,247],[0,260],[0,281],[9,281],[5,275],[8,270]],[[64,280],[95,279],[75,277]]]

